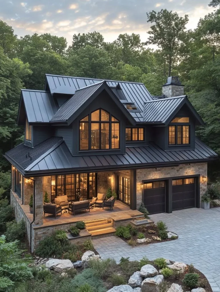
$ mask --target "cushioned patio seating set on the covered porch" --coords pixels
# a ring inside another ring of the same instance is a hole
[[[115,204],[115,197],[111,197],[110,199],[106,200],[105,194],[97,194],[97,197],[93,197],[91,201],[89,200],[82,200],[82,201],[71,201],[68,199],[68,197],[65,196],[58,196],[54,199],[53,204],[52,203],[44,203],[44,216],[45,214],[51,214],[51,215],[62,215],[63,213],[72,213],[75,216],[75,211],[82,211],[82,210],[89,210],[96,206],[99,206],[100,208],[104,210],[104,208],[110,208],[110,210],[113,210]]]

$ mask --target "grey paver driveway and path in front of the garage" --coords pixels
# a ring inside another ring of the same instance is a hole
[[[119,237],[110,236],[94,239],[96,250],[103,258],[115,258],[117,262],[122,256],[130,257],[130,260],[147,256],[150,260],[164,257],[193,263],[205,274],[213,292],[220,292],[220,208],[193,208],[151,215],[150,218],[155,222],[163,220],[179,239],[132,248]]]

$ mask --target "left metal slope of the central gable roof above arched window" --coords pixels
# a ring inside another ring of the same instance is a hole
[[[75,91],[75,94],[62,105],[51,121],[67,121],[102,85],[101,81]]]

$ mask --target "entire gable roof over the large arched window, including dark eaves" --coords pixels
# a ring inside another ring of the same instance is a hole
[[[135,125],[134,118],[129,115],[126,108],[118,100],[117,96],[111,90],[105,80],[75,91],[75,94],[69,100],[67,100],[67,102],[65,102],[64,105],[60,107],[60,109],[58,109],[57,113],[51,119],[51,122],[67,121],[68,124],[72,123],[72,121],[88,106],[89,102],[91,102],[104,89],[109,93],[111,98],[125,114],[131,124]]]

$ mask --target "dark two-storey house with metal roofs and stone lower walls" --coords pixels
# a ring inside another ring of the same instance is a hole
[[[195,136],[204,122],[178,77],[153,97],[141,83],[46,74],[44,91],[21,90],[17,123],[24,142],[4,156],[12,165],[11,204],[26,221],[32,250],[75,218],[46,220],[45,192],[51,202],[77,201],[111,187],[131,216],[141,202],[150,214],[200,208],[207,162],[217,157]]]

